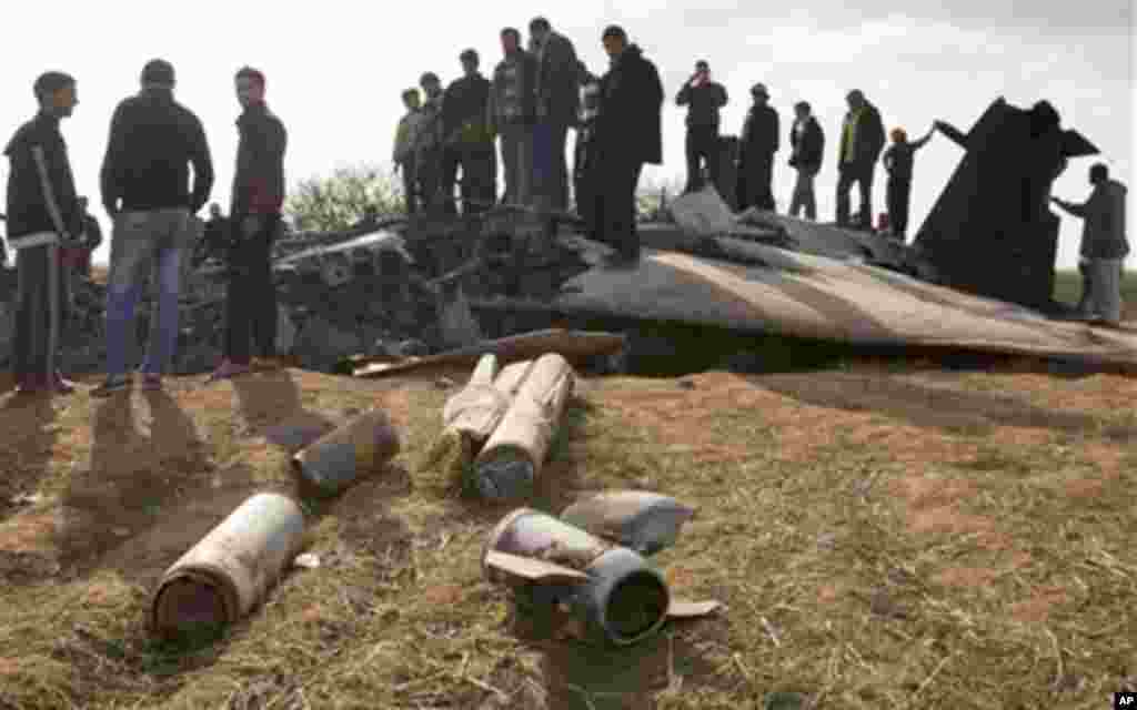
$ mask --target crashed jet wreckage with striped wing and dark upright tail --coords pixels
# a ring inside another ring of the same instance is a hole
[[[450,352],[468,365],[487,352],[501,357],[487,339],[507,348],[509,337],[558,324],[681,324],[1130,369],[1132,331],[1055,318],[1067,314],[1051,300],[1059,217],[1046,197],[1070,158],[1097,152],[1059,122],[1046,102],[1024,110],[998,99],[966,133],[947,126],[964,154],[912,245],[773,212],[735,214],[713,187],[640,224],[642,258],[620,269],[604,265],[607,247],[579,235],[574,215],[559,215],[561,231],[549,236],[545,216],[511,206],[285,234],[274,247],[279,352],[307,369],[381,377],[449,361]],[[15,272],[0,274],[0,299],[10,301]],[[224,265],[207,261],[183,284],[175,369],[207,371],[219,360]],[[72,371],[101,368],[102,302],[100,285],[78,284],[63,329]],[[0,303],[0,360],[10,318]],[[547,337],[557,344],[520,359],[572,359],[578,335]],[[625,362],[609,356],[573,365]]]

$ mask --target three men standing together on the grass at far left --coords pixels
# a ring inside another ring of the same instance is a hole
[[[121,101],[100,170],[102,206],[114,228],[107,281],[107,377],[94,396],[128,390],[134,311],[148,278],[156,309],[140,374],[157,390],[179,340],[183,254],[202,244],[225,252],[229,266],[224,356],[210,379],[248,371],[254,354],[275,365],[276,291],[269,261],[284,203],[288,134],[265,103],[265,75],[243,67],[233,78],[242,111],[230,214],[213,206],[208,229],[197,214],[214,187],[213,159],[201,120],[174,98],[174,67],[153,59],[142,68],[140,89]],[[48,72],[36,78],[35,117],[16,131],[5,154],[10,161],[7,194],[8,243],[17,250],[18,284],[11,367],[17,390],[69,393],[74,384],[56,362],[59,324],[69,303],[65,268],[89,268],[101,236],[98,222],[76,194],[67,144],[59,130],[78,103],[75,77]],[[192,185],[190,169],[192,168]],[[78,252],[77,259],[74,258]]]

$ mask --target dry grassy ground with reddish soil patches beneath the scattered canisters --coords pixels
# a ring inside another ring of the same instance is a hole
[[[451,374],[460,381],[462,374]],[[446,383],[441,383],[445,385]],[[720,615],[608,653],[534,640],[479,568],[508,508],[416,469],[453,389],[285,370],[0,398],[0,708],[1086,708],[1137,684],[1137,382],[1024,371],[582,381],[530,503],[698,506],[657,557]],[[317,510],[267,603],[152,641],[163,570],[372,406],[404,454]]]

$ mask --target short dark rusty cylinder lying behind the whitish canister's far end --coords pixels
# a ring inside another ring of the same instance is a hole
[[[325,495],[335,495],[399,452],[399,434],[373,409],[329,432],[292,457],[292,469]]]

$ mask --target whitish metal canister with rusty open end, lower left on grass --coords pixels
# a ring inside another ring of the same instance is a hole
[[[151,628],[171,636],[235,623],[264,600],[302,536],[296,501],[279,493],[249,498],[163,575]]]

